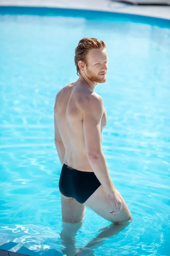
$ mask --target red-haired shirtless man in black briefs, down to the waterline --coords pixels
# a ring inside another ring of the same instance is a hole
[[[106,81],[107,61],[104,41],[80,40],[75,49],[79,78],[63,87],[55,99],[55,144],[62,164],[59,190],[62,220],[66,223],[82,221],[86,206],[112,223],[132,219],[113,186],[102,152],[102,129],[107,115],[94,88]]]

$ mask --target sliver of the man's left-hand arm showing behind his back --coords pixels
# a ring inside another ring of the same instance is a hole
[[[61,165],[63,165],[64,156],[65,156],[65,146],[62,142],[62,138],[61,138],[60,133],[59,133],[59,129],[58,129],[58,125],[57,125],[55,115],[54,115],[54,131],[55,131],[54,141],[55,141],[55,144],[56,144],[57,154],[58,154],[59,160],[61,162]]]

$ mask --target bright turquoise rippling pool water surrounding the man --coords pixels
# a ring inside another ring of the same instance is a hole
[[[108,114],[102,148],[133,216],[97,256],[170,255],[170,22],[54,9],[0,9],[0,237],[42,255],[62,251],[53,107],[77,79],[74,48],[104,40]],[[110,223],[86,209],[76,247]]]

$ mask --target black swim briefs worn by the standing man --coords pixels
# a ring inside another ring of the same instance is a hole
[[[59,178],[59,191],[62,195],[84,204],[100,185],[94,172],[78,171],[63,164]]]

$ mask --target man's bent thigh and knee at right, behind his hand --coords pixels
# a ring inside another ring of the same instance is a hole
[[[98,189],[85,201],[84,205],[91,208],[101,217],[111,221],[113,223],[122,223],[124,221],[129,221],[132,219],[129,209],[127,205],[120,195],[120,193],[116,190],[117,195],[122,200],[122,211],[119,212],[116,216],[111,215],[110,211],[113,211],[111,204],[109,202],[108,193],[105,191],[103,186],[99,186]]]

